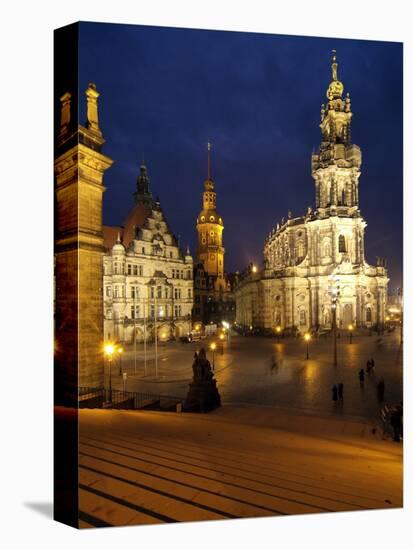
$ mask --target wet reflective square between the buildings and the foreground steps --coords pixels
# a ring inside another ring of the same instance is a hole
[[[159,346],[158,376],[155,376],[154,346],[148,345],[147,372],[144,373],[143,347],[137,348],[137,370],[134,373],[134,349],[126,346],[122,369],[128,373],[127,390],[184,397],[192,378],[193,354],[201,347],[208,349],[213,339],[192,344],[168,343]],[[308,414],[329,414],[376,421],[383,405],[377,398],[377,383],[385,381],[388,402],[400,402],[402,394],[402,350],[399,334],[385,334],[380,339],[367,333],[338,339],[338,366],[333,365],[330,336],[310,343],[306,360],[305,343],[294,338],[270,339],[233,335],[224,343],[221,354],[218,342],[215,352],[215,376],[224,404],[267,405],[298,410]],[[212,354],[208,353],[212,362]],[[274,356],[277,367],[270,368]],[[374,372],[360,385],[358,371],[374,357]],[[115,366],[114,387],[122,388]],[[343,382],[344,399],[333,402],[331,388]]]

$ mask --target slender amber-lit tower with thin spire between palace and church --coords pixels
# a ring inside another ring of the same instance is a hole
[[[208,143],[208,177],[204,182],[202,210],[196,220],[197,263],[194,269],[193,319],[203,323],[232,321],[235,300],[233,278],[224,270],[224,221],[217,211],[217,194],[211,176],[211,144]]]

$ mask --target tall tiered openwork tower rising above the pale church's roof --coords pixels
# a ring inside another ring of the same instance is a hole
[[[315,204],[321,217],[359,213],[361,150],[351,141],[350,94],[343,98],[343,92],[337,52],[333,50],[328,102],[321,106],[321,143],[311,158]]]

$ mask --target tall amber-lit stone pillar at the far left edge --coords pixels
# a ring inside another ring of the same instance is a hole
[[[102,196],[112,160],[102,153],[99,93],[86,90],[86,124],[77,124],[71,94],[61,98],[55,160],[55,358],[59,390],[103,387]],[[64,399],[64,401],[67,401]]]

